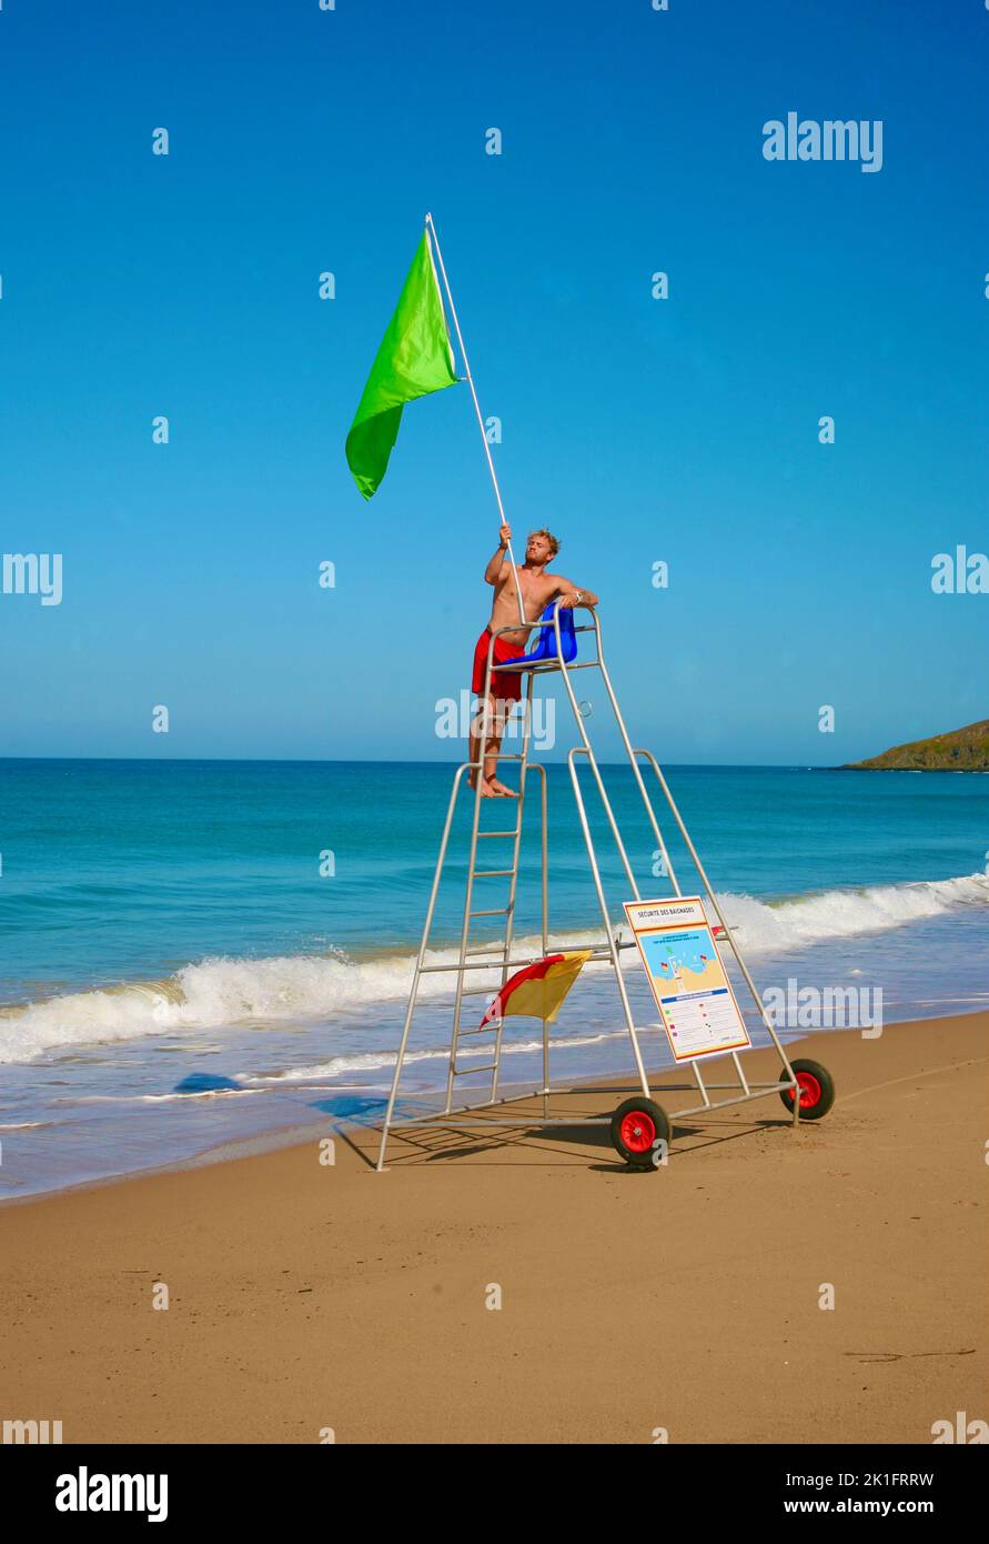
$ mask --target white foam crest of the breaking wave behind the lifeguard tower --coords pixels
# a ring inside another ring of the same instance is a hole
[[[719,902],[742,950],[758,956],[827,939],[881,933],[958,908],[986,906],[989,875],[829,889],[771,903],[753,896],[725,894],[719,896]],[[594,929],[554,934],[551,945],[566,948],[594,936]],[[538,939],[517,940],[518,956],[537,951]],[[449,963],[455,957],[455,950],[432,950],[426,963]],[[634,951],[628,951],[625,959],[631,963]],[[0,1062],[31,1061],[54,1047],[130,1041],[145,1034],[326,1019],[376,1002],[404,999],[412,965],[412,954],[363,960],[343,954],[205,959],[185,965],[167,980],[68,993],[0,1010]],[[497,977],[477,971],[472,985],[491,985],[494,990]],[[449,987],[449,976],[426,974],[421,996],[438,997]]]

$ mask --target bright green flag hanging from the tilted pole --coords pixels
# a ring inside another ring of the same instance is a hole
[[[387,471],[404,405],[455,383],[429,235],[423,232],[347,435],[347,465],[366,499]]]

